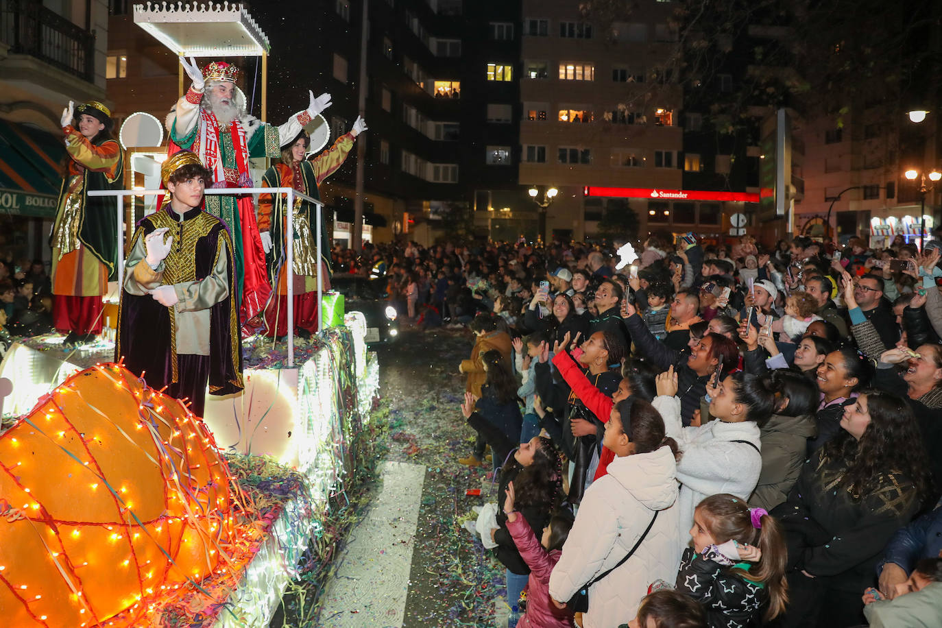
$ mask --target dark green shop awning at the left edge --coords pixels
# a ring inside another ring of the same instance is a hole
[[[61,137],[0,120],[0,215],[56,217],[64,158]]]

